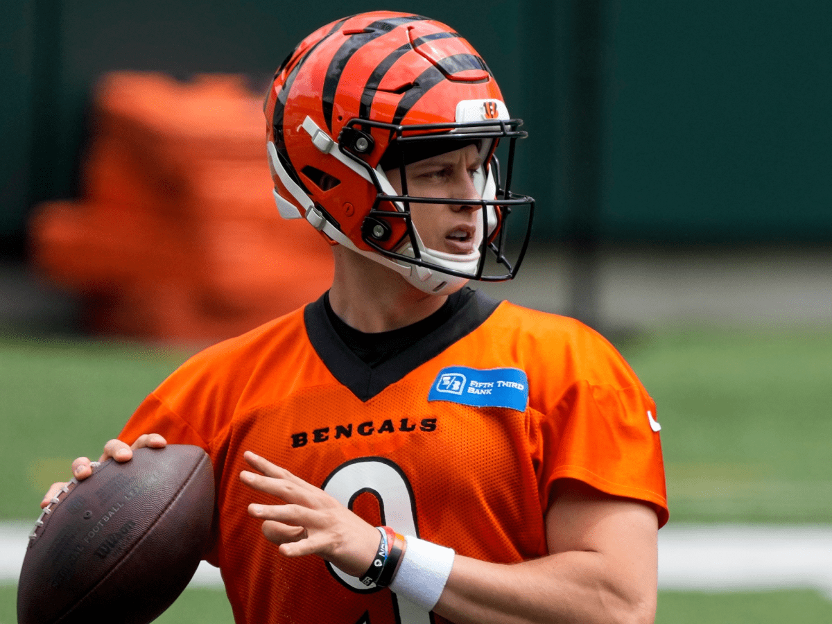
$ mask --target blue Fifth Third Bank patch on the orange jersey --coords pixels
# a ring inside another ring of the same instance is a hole
[[[526,411],[528,379],[520,369],[442,369],[428,393],[428,401],[450,401],[478,408]]]

